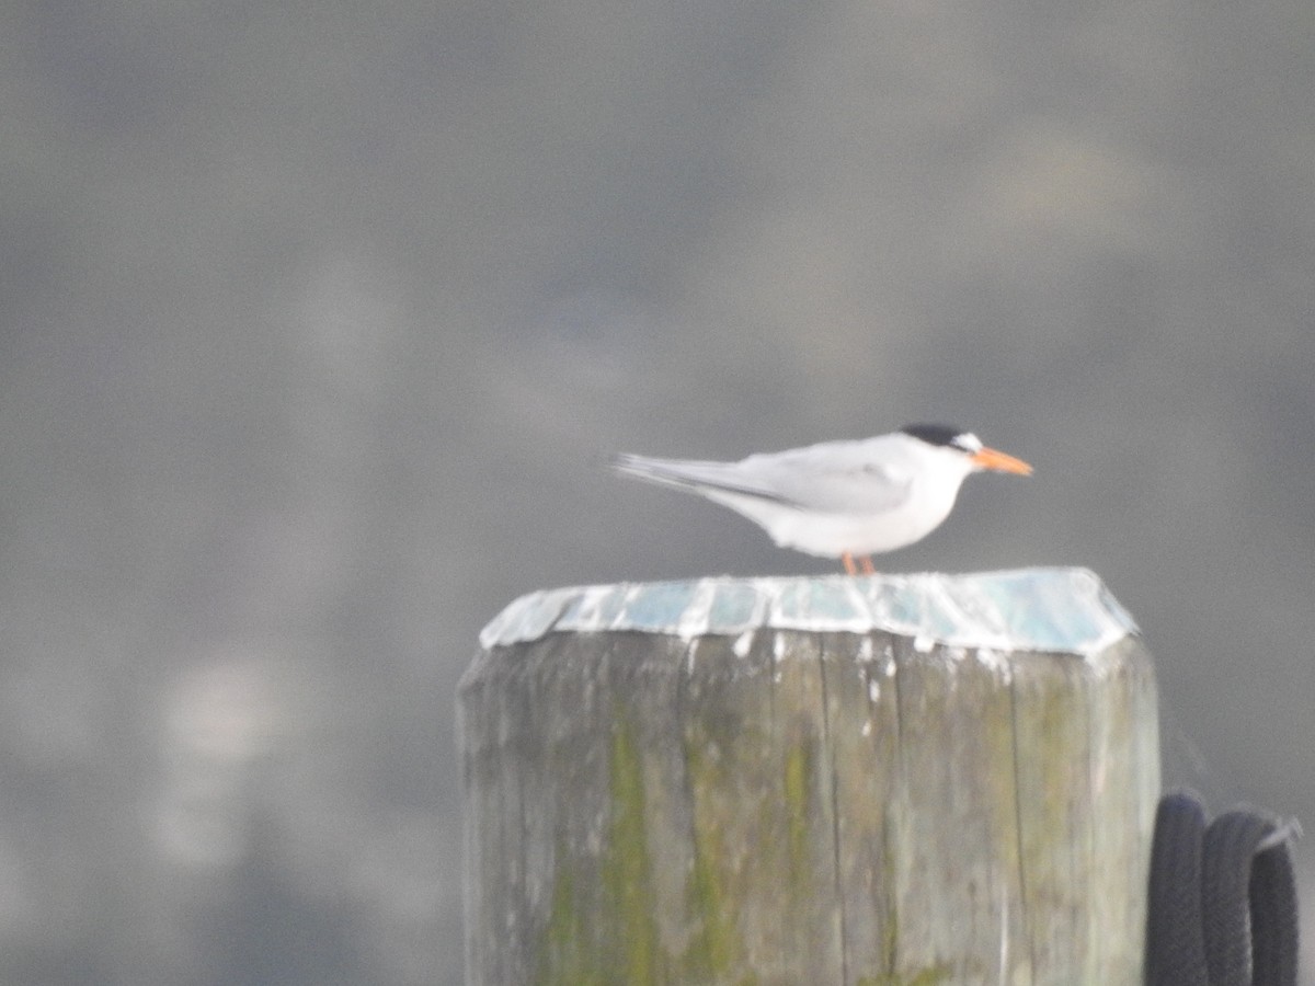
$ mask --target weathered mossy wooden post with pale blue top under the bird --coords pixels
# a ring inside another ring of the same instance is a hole
[[[562,589],[481,643],[469,983],[1141,982],[1155,676],[1090,572]]]

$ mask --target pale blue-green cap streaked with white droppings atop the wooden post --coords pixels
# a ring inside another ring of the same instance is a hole
[[[521,597],[480,634],[485,648],[548,632],[634,631],[684,639],[752,630],[889,632],[923,644],[1091,655],[1137,632],[1085,568],[548,589]]]

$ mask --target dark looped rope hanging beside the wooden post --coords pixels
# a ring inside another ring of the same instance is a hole
[[[1151,849],[1147,986],[1297,986],[1289,843],[1299,835],[1253,809],[1207,826],[1195,794],[1166,794]]]

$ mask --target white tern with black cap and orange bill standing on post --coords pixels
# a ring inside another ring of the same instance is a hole
[[[782,548],[839,557],[872,573],[872,555],[926,538],[949,515],[969,473],[1028,476],[1022,459],[970,431],[909,425],[888,435],[760,452],[738,463],[618,455],[618,472],[729,506]]]

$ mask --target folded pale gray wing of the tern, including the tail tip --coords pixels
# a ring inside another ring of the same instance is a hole
[[[873,514],[909,497],[911,471],[882,439],[826,442],[738,463],[617,456],[619,472],[696,493],[729,493],[798,510]]]

